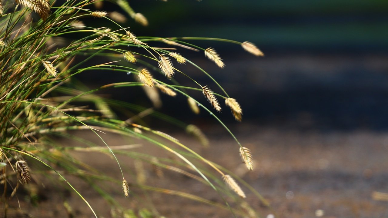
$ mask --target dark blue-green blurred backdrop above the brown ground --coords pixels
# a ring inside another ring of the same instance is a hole
[[[384,0],[154,0],[130,1],[149,20],[142,27],[129,19],[137,36],[197,36],[255,43],[265,57],[235,44],[188,41],[214,47],[226,64],[220,69],[203,53],[179,49],[236,98],[243,121],[300,129],[353,130],[388,127],[388,2]],[[114,9],[110,5],[107,10]],[[125,12],[121,11],[123,14]],[[165,44],[160,44],[165,46]],[[191,66],[179,66],[201,84],[220,92]],[[106,82],[106,77],[102,77]],[[183,76],[184,85],[194,84]],[[114,81],[127,80],[117,75]],[[96,77],[98,80],[98,76]],[[143,102],[140,90],[113,90],[114,98]],[[199,92],[189,92],[206,101]],[[188,116],[185,98],[163,96],[160,111],[187,122],[213,119],[202,111]],[[208,105],[208,104],[207,104]],[[209,106],[209,105],[208,105]],[[234,122],[221,100],[220,118]]]

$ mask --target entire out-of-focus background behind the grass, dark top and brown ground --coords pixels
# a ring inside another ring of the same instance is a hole
[[[130,3],[149,20],[148,27],[128,21],[137,36],[250,41],[265,54],[255,57],[229,43],[188,41],[215,48],[226,65],[220,69],[202,52],[178,50],[241,104],[242,123],[234,121],[223,102],[218,116],[252,150],[255,170],[247,173],[236,166],[240,163],[236,144],[209,114],[192,114],[183,96],[162,96],[159,111],[194,123],[208,134],[211,147],[205,157],[242,176],[280,217],[388,216],[384,195],[388,192],[388,1]],[[220,92],[194,67],[179,69]],[[96,72],[90,85],[128,80],[126,73],[111,75]],[[90,80],[90,74],[80,77]],[[179,74],[175,78],[194,85]],[[200,92],[189,93],[210,107]],[[113,89],[109,95],[152,107],[140,88]],[[152,126],[193,143],[164,123]],[[270,213],[260,202],[253,205],[264,217]],[[190,215],[187,208],[171,211],[172,217]]]

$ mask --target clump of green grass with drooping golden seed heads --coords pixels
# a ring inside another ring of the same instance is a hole
[[[210,73],[185,59],[178,51],[203,51],[204,57],[221,68],[225,64],[214,48],[201,48],[187,41],[217,40],[239,44],[256,56],[262,56],[263,53],[250,42],[217,38],[137,37],[132,29],[129,30],[128,20],[133,19],[147,26],[147,19],[136,13],[126,0],[113,1],[127,13],[126,15],[99,10],[104,2],[69,0],[61,4],[46,0],[17,0],[15,3],[7,1],[0,5],[0,178],[3,185],[1,202],[4,205],[5,217],[10,210],[23,211],[23,208],[12,203],[12,199],[17,196],[21,187],[29,189],[27,183],[38,183],[39,173],[35,172],[43,172],[47,177],[61,177],[62,182],[51,181],[55,185],[68,185],[69,189],[83,199],[85,206],[95,217],[99,215],[89,204],[87,196],[76,190],[66,176],[75,175],[88,183],[91,189],[95,189],[106,199],[107,205],[112,211],[116,211],[114,213],[118,217],[132,217],[130,215],[136,213],[140,217],[156,217],[158,212],[157,208],[146,200],[142,200],[144,204],[134,208],[125,208],[117,202],[116,196],[107,193],[98,185],[99,181],[114,184],[117,190],[123,191],[122,196],[129,199],[135,197],[132,190],[142,190],[142,193],[161,192],[229,209],[234,216],[252,217],[250,206],[244,201],[246,195],[235,181],[237,179],[242,182],[240,178],[181,144],[173,136],[153,130],[151,126],[152,122],[159,120],[177,125],[194,135],[204,146],[209,146],[208,139],[197,126],[185,124],[157,111],[161,106],[159,91],[171,97],[183,95],[187,97],[194,114],[198,114],[199,110],[207,111],[225,127],[236,140],[236,155],[240,153],[248,170],[253,170],[250,150],[242,147],[232,132],[213,113],[213,109],[222,111],[218,99],[224,99],[232,115],[241,121],[240,105],[236,99],[229,97]],[[109,26],[85,26],[83,19],[91,18],[107,21]],[[164,43],[167,48],[154,46],[160,43]],[[96,64],[96,61],[101,60],[96,57],[104,57],[106,61]],[[192,64],[197,67],[214,82],[222,94],[213,92],[208,85],[199,84],[190,75],[182,72],[179,69],[180,64]],[[106,73],[114,71],[134,74],[135,78],[130,82],[118,81],[85,90],[85,86],[74,77],[80,73],[98,70]],[[186,76],[193,86],[181,86],[174,80],[175,74]],[[107,88],[122,87],[142,87],[154,107],[147,109],[129,102],[106,99],[97,94]],[[194,99],[190,93],[195,91],[202,91],[210,104],[204,106]],[[123,116],[127,119],[119,119]],[[151,123],[142,121],[145,116],[153,117]],[[105,147],[77,137],[72,130],[91,131]],[[132,145],[109,146],[101,137],[105,133],[140,138],[176,158],[161,159],[148,155],[146,150],[136,153],[131,151]],[[84,144],[85,147],[64,145],[61,138]],[[121,174],[107,176],[104,172],[83,163],[82,158],[76,159],[71,151],[109,154],[116,162],[112,164],[117,165]],[[134,161],[135,175],[126,175],[128,166],[121,164],[116,155],[128,156]],[[140,167],[142,163],[152,164],[159,179],[163,177],[163,170],[169,170],[204,183],[219,194],[223,204],[179,190],[147,185]],[[42,167],[45,170],[42,170]],[[242,183],[253,190],[248,184]],[[258,192],[253,190],[253,194],[265,202]],[[267,205],[267,202],[265,204]],[[69,214],[72,213],[67,202],[64,202],[64,207]]]

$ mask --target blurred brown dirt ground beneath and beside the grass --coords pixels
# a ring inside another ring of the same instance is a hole
[[[279,128],[239,125],[234,132],[242,145],[251,149],[255,169],[247,172],[241,164],[238,146],[220,128],[205,128],[211,146],[203,149],[195,140],[177,132],[168,132],[182,143],[189,145],[204,157],[222,164],[252,185],[271,204],[276,217],[285,218],[383,218],[388,216],[388,202],[372,198],[373,192],[388,193],[388,132],[357,131],[298,131]],[[85,133],[78,133],[85,135]],[[128,144],[127,140],[114,135],[104,137],[109,145]],[[97,142],[97,139],[95,139]],[[161,149],[144,144],[142,148],[151,154],[167,156]],[[135,151],[140,151],[134,149]],[[145,151],[145,150],[143,150]],[[113,159],[105,154],[91,152],[74,153],[98,170],[120,179],[120,171]],[[119,156],[126,174],[133,171],[133,160]],[[176,173],[166,172],[164,178],[152,173],[151,166],[145,165],[147,184],[169,189],[177,189],[191,194],[220,201],[209,187]],[[106,201],[85,183],[75,182],[100,217],[111,217]],[[107,187],[110,194],[126,208],[139,201],[136,187],[131,187],[133,196],[125,199],[120,193],[120,185]],[[73,208],[75,217],[92,217],[85,203],[74,193],[65,193],[61,187],[37,185],[42,201],[34,208],[23,203],[23,193],[19,194],[21,206],[35,217],[67,217],[63,201]],[[243,188],[244,189],[244,188]],[[244,189],[248,202],[266,217],[272,213],[255,196]],[[185,217],[233,217],[227,210],[161,193],[148,192],[158,212],[168,218]],[[167,203],[166,203],[167,202]],[[11,202],[17,207],[17,201]],[[10,210],[8,217],[21,217],[19,212]],[[270,217],[270,216],[268,216]]]

